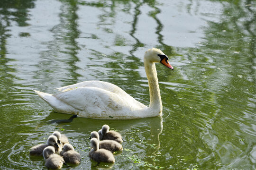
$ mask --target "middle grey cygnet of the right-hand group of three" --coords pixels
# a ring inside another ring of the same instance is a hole
[[[96,131],[91,132],[90,139],[92,138],[96,138],[99,141],[99,149],[107,149],[112,153],[123,150],[123,146],[119,144],[117,141],[114,141],[114,140],[100,141],[99,133]]]

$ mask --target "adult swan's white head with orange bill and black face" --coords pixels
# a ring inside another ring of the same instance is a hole
[[[171,64],[168,62],[168,59],[169,58],[165,55],[164,52],[156,48],[147,50],[144,55],[144,60],[164,64],[167,68],[171,68],[173,70],[174,67],[171,66]]]

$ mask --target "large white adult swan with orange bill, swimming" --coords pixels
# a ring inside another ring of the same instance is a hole
[[[162,101],[155,62],[174,69],[168,57],[159,49],[149,49],[144,55],[150,104],[136,101],[116,85],[102,81],[85,81],[57,88],[60,93],[49,94],[34,90],[56,112],[75,114],[93,119],[137,119],[162,114]]]

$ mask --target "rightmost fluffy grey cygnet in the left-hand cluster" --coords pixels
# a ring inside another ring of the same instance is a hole
[[[63,150],[60,152],[60,155],[63,156],[63,159],[66,163],[80,163],[81,156],[78,152],[74,151],[74,148],[71,144],[64,144],[62,149]]]

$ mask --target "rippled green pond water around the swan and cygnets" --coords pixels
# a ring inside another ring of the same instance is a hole
[[[54,130],[81,164],[64,170],[255,170],[256,1],[0,0],[0,169],[46,169],[29,148]],[[148,105],[144,52],[156,47],[163,116],[75,118],[54,112],[31,89],[101,80]],[[114,164],[88,157],[91,131],[120,132]]]

